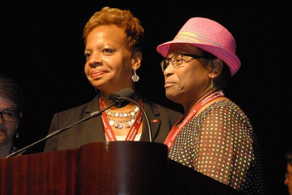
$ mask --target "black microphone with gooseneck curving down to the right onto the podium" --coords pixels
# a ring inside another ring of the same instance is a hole
[[[137,107],[139,107],[139,109],[142,111],[142,113],[147,121],[149,138],[150,138],[150,142],[152,142],[152,133],[151,133],[151,127],[150,127],[148,116],[145,113],[144,109],[137,102],[132,100],[132,98],[134,96],[134,90],[131,88],[124,88],[124,89],[119,90],[119,92],[121,92],[122,94],[126,94],[126,95],[122,96],[119,94],[109,94],[108,100],[111,100],[114,103],[116,103],[116,107],[118,107],[118,108],[122,108],[122,107],[126,106],[128,103],[126,104],[125,102],[132,102],[135,105],[137,105]]]

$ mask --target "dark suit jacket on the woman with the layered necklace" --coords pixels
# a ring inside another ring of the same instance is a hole
[[[56,113],[53,116],[49,134],[88,117],[90,113],[94,111],[100,110],[98,100],[99,95],[87,104]],[[148,100],[143,100],[143,102],[145,113],[147,113],[150,121],[152,141],[164,143],[170,129],[180,119],[182,114],[152,103]],[[158,122],[153,123],[152,121],[154,119],[157,119]],[[143,117],[143,127],[140,141],[149,140],[147,121],[145,120],[145,117]],[[101,116],[99,116],[49,138],[46,141],[44,152],[79,148],[84,144],[101,141],[106,141],[106,138],[102,119]]]

